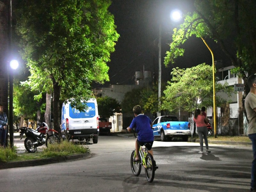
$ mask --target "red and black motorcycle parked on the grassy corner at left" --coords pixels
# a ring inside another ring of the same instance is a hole
[[[38,123],[36,130],[29,127],[20,127],[20,140],[25,134],[26,139],[24,141],[25,148],[29,153],[35,153],[38,146],[48,145],[48,143],[59,143],[60,137],[58,132],[52,129],[49,129],[46,123]],[[57,134],[50,134],[50,132],[55,132]]]

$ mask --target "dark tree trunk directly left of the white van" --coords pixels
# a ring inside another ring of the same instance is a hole
[[[60,85],[54,78],[53,83],[53,128],[60,134]]]

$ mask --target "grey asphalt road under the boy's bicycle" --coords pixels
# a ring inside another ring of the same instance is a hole
[[[210,144],[212,153],[199,154],[199,143],[155,141],[159,169],[148,183],[143,169],[132,174],[134,141],[100,136],[89,158],[0,170],[0,191],[250,191],[251,146]]]

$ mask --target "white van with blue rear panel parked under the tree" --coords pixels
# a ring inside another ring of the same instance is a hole
[[[62,104],[61,110],[61,136],[68,140],[90,141],[98,143],[99,114],[96,99],[86,102],[88,109],[81,112],[70,106],[70,102]]]

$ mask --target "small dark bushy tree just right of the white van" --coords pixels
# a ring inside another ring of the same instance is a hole
[[[121,112],[121,106],[118,101],[111,97],[99,97],[97,98],[99,116],[102,118],[108,118],[115,115],[115,113]]]

